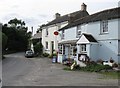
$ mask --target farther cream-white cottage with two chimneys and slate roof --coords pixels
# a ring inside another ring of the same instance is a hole
[[[53,50],[56,52],[58,51],[58,39],[59,37],[61,38],[62,35],[59,34],[59,36],[56,36],[54,35],[54,32],[68,25],[68,23],[71,23],[73,20],[89,15],[85,9],[86,5],[82,4],[81,10],[79,11],[64,16],[56,13],[56,18],[42,27],[42,44],[44,53],[52,54]]]

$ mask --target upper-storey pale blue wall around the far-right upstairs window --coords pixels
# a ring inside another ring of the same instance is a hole
[[[100,21],[82,26],[82,32],[92,34],[97,40],[118,39],[118,19],[108,20],[108,34],[100,34]],[[86,26],[87,30],[84,30]]]

